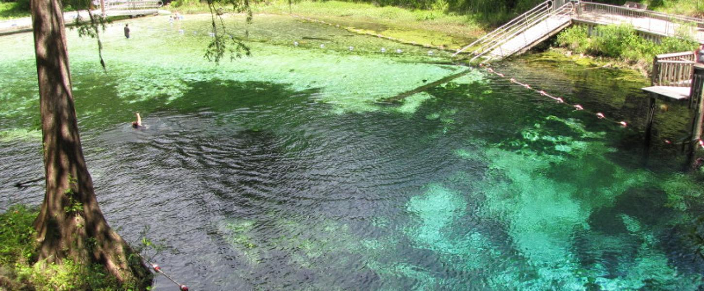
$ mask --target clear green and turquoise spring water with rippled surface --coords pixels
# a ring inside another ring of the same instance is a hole
[[[687,235],[704,187],[661,142],[686,110],[658,113],[644,160],[639,78],[550,54],[496,67],[623,129],[446,53],[294,18],[256,16],[253,56],[218,66],[206,18],[130,20],[131,39],[123,23],[103,36],[107,72],[68,32],[84,152],[111,226],[135,242],[150,226],[158,264],[193,290],[702,283]],[[0,206],[37,205],[42,188],[9,186],[43,172],[32,37],[0,45]]]

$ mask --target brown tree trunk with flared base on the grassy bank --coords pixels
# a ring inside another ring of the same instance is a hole
[[[151,272],[115,233],[98,207],[84,161],[71,91],[63,12],[59,0],[32,0],[42,115],[46,194],[34,221],[38,259],[101,264],[119,282],[143,289]]]

